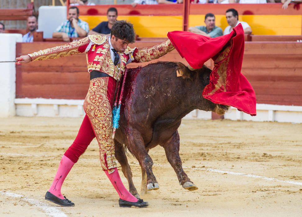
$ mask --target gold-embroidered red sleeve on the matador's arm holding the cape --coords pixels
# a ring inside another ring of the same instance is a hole
[[[152,47],[138,47],[133,51],[134,60],[132,62],[142,63],[155,60],[173,50],[174,46],[170,39]]]

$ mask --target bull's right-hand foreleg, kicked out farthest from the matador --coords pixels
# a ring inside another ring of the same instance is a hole
[[[179,157],[178,131],[171,136],[163,147],[165,148],[166,157],[177,175],[179,184],[189,191],[197,190],[197,186],[193,184],[193,182],[188,178],[187,174],[183,171],[182,162]]]

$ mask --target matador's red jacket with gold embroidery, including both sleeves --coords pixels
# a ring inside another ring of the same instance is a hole
[[[91,47],[86,51],[88,72],[91,72],[92,70],[101,71],[114,79],[119,80],[124,74],[125,66],[130,58],[132,62],[136,63],[148,62],[174,50],[174,46],[169,39],[152,47],[127,47],[124,53],[118,52],[120,63],[115,66],[111,59],[110,44],[108,40],[109,38],[105,36],[89,35],[79,41],[34,52],[29,54],[29,56],[33,61],[57,59],[63,56],[83,53],[90,44]]]

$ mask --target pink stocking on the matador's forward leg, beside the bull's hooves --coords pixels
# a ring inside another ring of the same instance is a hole
[[[104,170],[111,184],[115,188],[116,192],[119,194],[119,198],[125,201],[136,202],[137,198],[134,197],[124,186],[121,178],[119,177],[119,171],[114,168],[113,173],[108,173],[108,170]]]

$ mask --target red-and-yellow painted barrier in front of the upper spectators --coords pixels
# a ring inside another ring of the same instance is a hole
[[[119,20],[128,20],[140,37],[166,37],[167,32],[183,30],[183,4],[175,5],[96,5],[79,6],[80,19],[92,29],[107,21],[109,7],[116,7]],[[301,35],[302,10],[290,4],[282,10],[281,3],[268,4],[191,4],[188,26],[204,25],[205,14],[215,14],[216,26],[228,26],[225,12],[236,8],[239,20],[247,22],[256,35]]]

